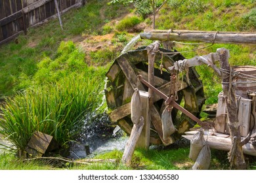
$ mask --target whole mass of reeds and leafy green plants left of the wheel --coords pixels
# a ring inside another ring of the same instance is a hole
[[[84,56],[73,42],[61,42],[56,58],[42,59],[34,76],[20,75],[20,88],[26,90],[8,97],[0,107],[0,133],[16,148],[24,150],[34,131],[53,135],[64,144],[72,139],[79,118],[98,108],[103,72],[88,67]]]

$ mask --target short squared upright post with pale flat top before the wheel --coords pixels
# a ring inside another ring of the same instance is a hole
[[[136,147],[148,149],[150,144],[150,114],[148,108],[148,92],[140,91],[140,102],[142,104],[142,117],[144,118],[144,127]]]

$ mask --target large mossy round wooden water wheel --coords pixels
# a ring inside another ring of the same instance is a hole
[[[154,66],[154,86],[165,93],[165,95],[169,95],[170,73],[168,67],[173,66],[175,61],[184,59],[184,57],[181,54],[165,54],[165,52],[171,51],[163,48],[160,48],[160,51],[163,52],[163,72],[161,74],[160,71],[162,57],[160,53],[157,53]],[[133,122],[131,121],[131,96],[133,95],[134,88],[148,91],[146,86],[137,82],[137,75],[142,75],[145,80],[148,80],[148,55],[146,47],[138,48],[119,56],[106,74],[108,80],[105,93],[108,109],[110,110],[110,119],[119,125],[127,135],[131,134],[133,127]],[[184,77],[181,77],[183,80],[180,79],[177,83],[179,96],[177,103],[195,116],[199,116],[205,101],[203,85],[194,68],[189,69],[188,77],[190,82],[186,80],[186,75],[184,74]],[[154,109],[150,111],[150,144],[167,145],[162,141],[163,132],[161,129],[161,113],[164,107],[163,99],[158,95],[154,95]],[[179,139],[184,131],[188,131],[190,127],[196,124],[176,109],[172,111],[172,118],[173,123],[178,129],[172,135],[173,139]],[[171,142],[168,144],[171,144]]]

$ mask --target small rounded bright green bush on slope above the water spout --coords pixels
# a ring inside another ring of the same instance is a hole
[[[123,18],[117,25],[116,29],[118,31],[125,31],[127,29],[133,28],[135,25],[142,22],[142,20],[138,16],[128,16],[127,18]]]

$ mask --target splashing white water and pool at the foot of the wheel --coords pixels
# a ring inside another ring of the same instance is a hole
[[[123,137],[123,131],[115,131],[108,118],[107,114],[96,116],[95,114],[87,114],[82,125],[78,125],[77,142],[72,142],[70,145],[70,156],[68,158],[79,159],[88,156],[86,154],[85,145],[89,146],[91,156],[111,150],[123,150],[128,137]]]

